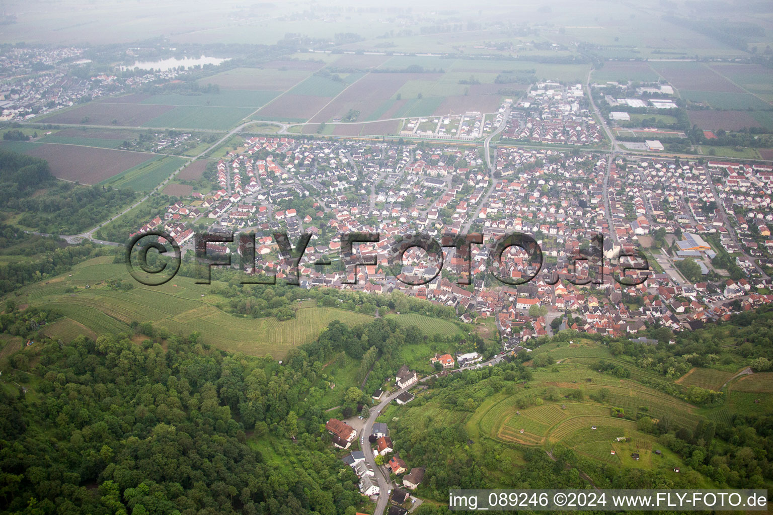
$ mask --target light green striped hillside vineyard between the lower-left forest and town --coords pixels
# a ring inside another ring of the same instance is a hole
[[[316,307],[314,303],[295,304],[293,320],[237,317],[215,306],[225,299],[213,295],[211,286],[182,276],[162,286],[136,284],[128,291],[111,290],[104,280],[133,280],[124,265],[105,263],[106,260],[110,258],[91,259],[75,267],[71,274],[28,286],[18,301],[55,307],[96,334],[131,333],[132,321],[149,321],[173,334],[198,331],[204,342],[227,351],[272,357],[283,357],[289,348],[313,341],[332,320],[341,320],[350,327],[373,320],[363,313]],[[67,287],[76,290],[64,293]],[[71,337],[72,324],[61,325],[64,336]]]

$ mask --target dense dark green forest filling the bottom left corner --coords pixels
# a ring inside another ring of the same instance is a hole
[[[17,372],[29,394],[0,391],[5,513],[351,515],[363,502],[319,431],[325,414],[302,400],[311,368],[226,355],[196,335],[166,348],[111,336],[43,344]],[[281,439],[281,466],[257,436]]]

